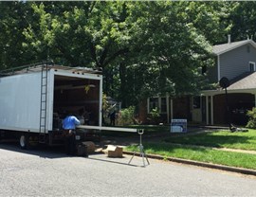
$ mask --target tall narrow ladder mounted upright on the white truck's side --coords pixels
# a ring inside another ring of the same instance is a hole
[[[41,67],[39,143],[46,143],[47,79],[48,79],[48,65],[46,63],[46,64],[43,64]]]

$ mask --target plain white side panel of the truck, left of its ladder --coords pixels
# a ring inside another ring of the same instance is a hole
[[[39,132],[41,73],[0,79],[0,129]]]

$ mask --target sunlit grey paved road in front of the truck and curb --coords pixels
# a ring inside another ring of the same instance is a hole
[[[0,144],[0,196],[256,196],[256,177],[130,155],[68,157]]]

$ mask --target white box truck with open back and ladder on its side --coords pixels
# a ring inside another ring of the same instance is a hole
[[[101,71],[37,64],[0,71],[0,138],[19,138],[21,148],[62,140],[64,114],[81,110],[101,127]]]

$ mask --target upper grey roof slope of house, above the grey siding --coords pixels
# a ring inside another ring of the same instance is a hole
[[[247,44],[251,44],[256,48],[256,44],[252,40],[245,40],[245,41],[232,42],[232,43],[223,44],[223,45],[213,45],[212,52],[215,55],[221,55],[241,45],[247,45]]]

